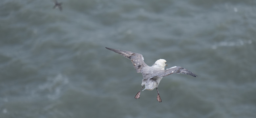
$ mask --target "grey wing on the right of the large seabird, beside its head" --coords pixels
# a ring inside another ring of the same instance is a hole
[[[170,74],[173,74],[173,73],[188,74],[188,75],[191,75],[191,76],[194,76],[194,77],[197,76],[196,74],[189,71],[188,69],[184,69],[184,68],[176,67],[176,66],[172,67],[172,68],[169,68],[169,69],[166,69],[166,70],[160,70],[159,72],[157,72],[155,74],[155,76],[164,77],[164,76],[167,76],[167,75],[170,75]]]

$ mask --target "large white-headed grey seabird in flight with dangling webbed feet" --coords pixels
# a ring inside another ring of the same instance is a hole
[[[106,47],[105,47],[106,48]],[[169,69],[164,69],[165,66],[167,66],[166,61],[164,59],[159,59],[153,64],[153,66],[148,66],[144,62],[144,58],[141,54],[131,52],[131,51],[124,51],[124,50],[119,50],[119,49],[111,49],[111,48],[106,48],[111,51],[114,51],[118,54],[121,54],[122,56],[130,59],[133,63],[134,68],[137,70],[137,72],[142,73],[142,83],[141,83],[141,89],[145,86],[143,90],[153,90],[154,88],[157,88],[160,81],[164,76],[173,74],[173,73],[181,73],[181,74],[188,74],[191,76],[196,77],[197,75],[194,74],[193,72],[189,71],[188,69],[184,69],[181,67],[171,67]],[[135,95],[135,99],[138,99],[140,97],[140,91]],[[142,91],[143,91],[142,90]],[[157,101],[162,102],[158,89],[157,89]]]

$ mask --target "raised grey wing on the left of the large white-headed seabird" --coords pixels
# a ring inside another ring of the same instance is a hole
[[[121,54],[122,56],[130,59],[133,63],[134,68],[137,70],[138,73],[141,72],[140,70],[143,67],[148,67],[148,65],[145,64],[145,62],[143,61],[144,60],[143,56],[139,53],[135,53],[135,52],[131,52],[131,51],[124,51],[124,50],[119,50],[119,49],[111,49],[111,48],[106,48],[106,49],[114,51],[114,52]]]

